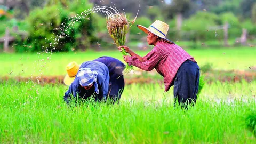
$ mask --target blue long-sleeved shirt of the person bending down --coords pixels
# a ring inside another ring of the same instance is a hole
[[[94,86],[91,87],[89,90],[85,90],[84,87],[82,87],[79,84],[79,80],[76,77],[74,82],[71,83],[69,86],[69,89],[67,92],[65,92],[65,95],[63,97],[64,101],[69,104],[71,97],[73,96],[75,99],[77,99],[77,95],[79,98],[87,99],[94,96],[95,101],[101,101],[105,99],[108,95],[108,87],[109,87],[109,70],[106,65],[104,65],[101,62],[98,61],[86,61],[82,63],[80,68],[90,68],[91,70],[97,71],[97,84],[99,87],[99,94],[96,94],[94,90]],[[95,83],[95,82],[94,82]]]

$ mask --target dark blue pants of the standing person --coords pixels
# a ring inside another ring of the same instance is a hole
[[[196,103],[200,71],[196,62],[186,60],[177,71],[174,80],[174,107],[177,101],[181,108]]]

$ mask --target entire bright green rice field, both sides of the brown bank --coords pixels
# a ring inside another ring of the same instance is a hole
[[[147,51],[139,51],[145,55]],[[199,66],[250,70],[256,49],[189,49]],[[77,53],[1,53],[0,77],[65,76],[70,61],[82,63],[115,51]],[[124,75],[129,78],[129,75]],[[173,107],[173,87],[162,83],[125,86],[119,105],[67,106],[63,84],[0,80],[0,143],[255,143],[247,115],[256,111],[256,81],[206,83],[195,107]]]

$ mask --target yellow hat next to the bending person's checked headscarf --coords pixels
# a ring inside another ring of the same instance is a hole
[[[75,61],[68,63],[68,65],[66,66],[68,74],[64,77],[64,83],[66,85],[71,85],[71,83],[74,81],[74,79],[76,78],[76,74],[79,70],[79,67],[80,66]]]

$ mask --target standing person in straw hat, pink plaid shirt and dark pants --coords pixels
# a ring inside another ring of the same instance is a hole
[[[196,103],[199,85],[199,67],[193,57],[174,42],[166,39],[169,25],[156,20],[148,28],[137,25],[147,36],[149,45],[155,47],[144,57],[140,57],[127,46],[123,47],[131,55],[123,56],[129,65],[136,66],[142,70],[150,71],[156,69],[164,77],[165,92],[174,85],[174,106],[178,100],[183,108],[187,104]]]

